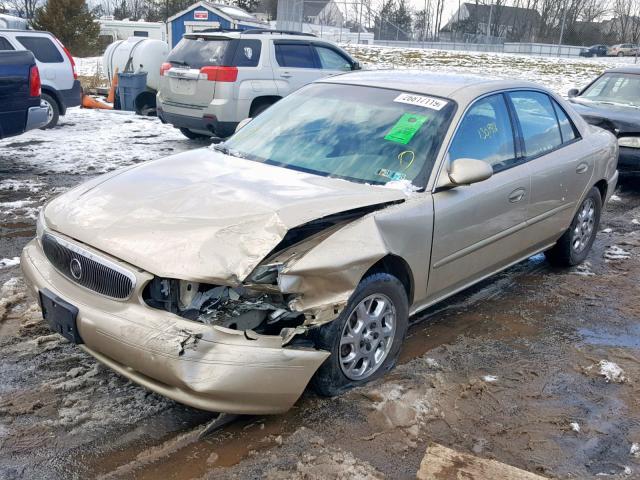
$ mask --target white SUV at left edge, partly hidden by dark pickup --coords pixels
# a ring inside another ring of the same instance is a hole
[[[82,93],[76,65],[69,50],[49,32],[0,29],[0,50],[30,50],[42,81],[42,101],[49,107],[47,123],[53,128],[69,107],[80,105]]]

